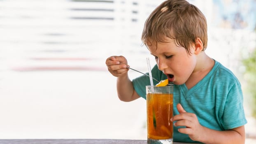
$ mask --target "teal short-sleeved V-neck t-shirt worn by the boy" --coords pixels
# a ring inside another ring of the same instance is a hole
[[[158,70],[157,65],[152,69],[155,79],[167,79]],[[154,81],[154,85],[157,84]],[[146,99],[145,86],[150,85],[149,77],[141,76],[133,79],[135,91]],[[202,126],[213,130],[229,130],[245,125],[243,94],[240,82],[226,67],[215,60],[212,70],[191,89],[185,84],[174,85],[173,114],[179,114],[176,105],[180,103],[185,111],[196,114]],[[194,142],[188,135],[178,132],[174,126],[174,142]]]

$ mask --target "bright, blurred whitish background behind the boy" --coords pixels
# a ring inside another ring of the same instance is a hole
[[[0,0],[0,139],[147,139],[146,101],[121,102],[105,60],[155,65],[140,36],[161,2]],[[246,143],[255,144],[256,0],[189,2],[207,18],[206,53],[242,84]]]

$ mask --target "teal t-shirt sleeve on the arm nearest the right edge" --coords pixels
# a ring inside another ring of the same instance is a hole
[[[238,81],[235,81],[228,92],[221,123],[226,130],[237,128],[247,123],[244,114],[242,90]]]

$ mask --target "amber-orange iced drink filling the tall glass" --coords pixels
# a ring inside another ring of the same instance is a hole
[[[171,139],[173,125],[172,94],[147,94],[147,133],[150,139]]]

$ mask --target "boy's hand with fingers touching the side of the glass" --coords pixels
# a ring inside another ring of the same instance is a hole
[[[186,128],[179,128],[178,131],[189,135],[193,141],[198,141],[203,135],[204,127],[200,125],[197,116],[193,113],[186,112],[181,104],[177,105],[179,114],[173,116],[171,121],[177,121],[175,126],[186,126]]]

